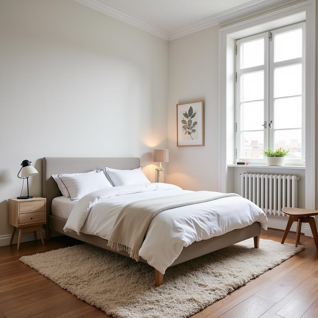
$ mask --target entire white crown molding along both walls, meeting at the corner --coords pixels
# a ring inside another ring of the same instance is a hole
[[[230,23],[235,21],[238,18],[244,18],[248,14],[251,14],[257,10],[267,9],[278,7],[280,5],[291,3],[291,0],[252,0],[247,3],[243,3],[234,8],[219,12],[217,14],[211,15],[209,17],[203,18],[201,20],[192,22],[190,24],[183,25],[179,28],[173,30],[166,30],[156,24],[153,24],[149,21],[146,21],[140,17],[137,17],[128,11],[122,10],[119,7],[108,3],[105,0],[74,0],[76,2],[82,3],[90,8],[98,10],[102,13],[105,13],[111,17],[114,17],[118,20],[126,22],[130,25],[133,25],[143,31],[149,32],[163,38],[164,40],[170,41],[176,38],[183,37],[184,35],[194,33],[200,30],[204,30],[211,26],[220,24],[220,23]]]

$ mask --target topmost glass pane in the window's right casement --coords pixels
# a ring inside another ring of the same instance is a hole
[[[274,38],[274,62],[302,56],[302,30],[277,34]]]

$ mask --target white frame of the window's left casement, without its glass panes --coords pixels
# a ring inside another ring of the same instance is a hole
[[[259,66],[253,66],[253,67],[248,67],[248,68],[240,68],[240,59],[241,59],[241,54],[240,54],[240,48],[242,44],[264,38],[264,64],[259,65]],[[235,119],[236,119],[236,157],[238,160],[242,159],[242,161],[245,161],[246,159],[243,158],[242,151],[244,144],[242,144],[241,139],[241,133],[244,132],[245,130],[242,130],[241,128],[241,89],[240,89],[240,83],[241,83],[241,76],[244,74],[248,73],[253,73],[257,71],[264,71],[264,121],[266,123],[268,122],[268,32],[263,32],[260,34],[255,34],[246,38],[242,38],[236,41],[236,86],[235,86],[235,96],[236,96],[236,101],[235,101]],[[248,101],[250,102],[255,102],[256,100],[251,100]],[[264,123],[263,121],[263,123]],[[262,124],[263,124],[262,123]],[[263,128],[260,127],[259,130],[262,130]],[[250,130],[250,131],[255,131],[255,130]],[[263,129],[264,131],[264,149],[267,149],[268,145],[268,136],[266,134],[266,129]],[[260,158],[248,158],[248,162],[256,163],[256,162],[265,162],[265,158],[260,159]]]

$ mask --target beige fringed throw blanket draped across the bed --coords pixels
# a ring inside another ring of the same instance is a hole
[[[198,204],[223,197],[238,196],[235,193],[197,191],[169,197],[135,201],[127,204],[118,214],[108,246],[116,251],[126,251],[136,261],[151,219],[158,213],[185,205]]]

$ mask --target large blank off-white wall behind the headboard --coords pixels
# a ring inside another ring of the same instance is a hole
[[[0,2],[0,237],[20,163],[42,194],[44,156],[141,157],[167,144],[168,42],[73,0]],[[160,114],[160,116],[159,116]]]

